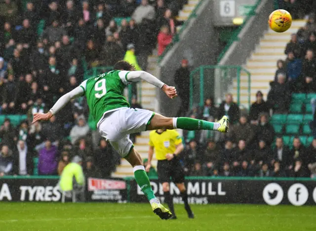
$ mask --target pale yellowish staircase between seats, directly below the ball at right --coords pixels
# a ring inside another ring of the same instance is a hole
[[[276,73],[276,61],[285,60],[284,49],[290,40],[290,35],[297,33],[300,27],[305,26],[306,20],[293,20],[291,28],[284,33],[276,33],[270,28],[247,60],[244,68],[251,73],[251,102],[256,100],[256,92],[261,90],[264,98],[270,89],[269,82],[274,80]],[[237,79],[234,79],[234,98],[237,99]],[[248,108],[248,76],[240,76],[240,105]]]

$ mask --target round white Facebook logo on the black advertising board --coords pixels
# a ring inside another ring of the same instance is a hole
[[[294,184],[288,189],[287,198],[291,204],[301,206],[308,199],[308,190],[303,184]]]

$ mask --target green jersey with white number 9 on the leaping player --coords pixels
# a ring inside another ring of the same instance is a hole
[[[123,96],[127,80],[127,71],[111,71],[96,77],[86,79],[80,84],[87,98],[90,113],[98,123],[104,114],[119,108],[129,108],[129,103]]]

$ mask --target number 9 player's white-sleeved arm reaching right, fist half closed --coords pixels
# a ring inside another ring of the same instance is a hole
[[[164,84],[162,81],[160,81],[155,76],[149,74],[148,72],[144,72],[144,71],[126,72],[125,78],[127,81],[130,81],[130,82],[135,82],[135,81],[139,81],[143,79],[149,82],[150,84],[153,84],[154,86],[161,88],[170,99],[178,96],[177,90],[175,87]]]

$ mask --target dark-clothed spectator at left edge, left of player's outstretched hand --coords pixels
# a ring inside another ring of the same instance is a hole
[[[13,75],[8,75],[7,82],[3,87],[3,95],[2,95],[2,113],[3,114],[14,114],[15,113],[15,93],[18,87],[14,82]]]

